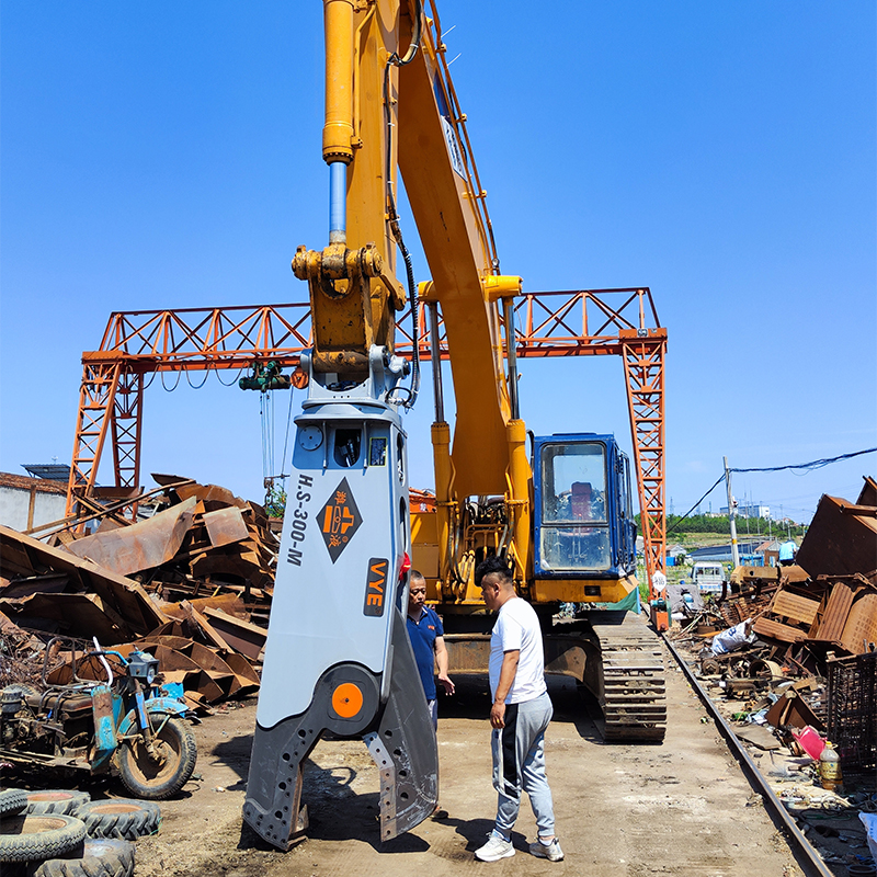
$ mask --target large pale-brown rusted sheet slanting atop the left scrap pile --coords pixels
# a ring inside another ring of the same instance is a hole
[[[172,505],[152,517],[105,533],[77,539],[67,550],[128,576],[173,560],[192,527],[196,500]]]

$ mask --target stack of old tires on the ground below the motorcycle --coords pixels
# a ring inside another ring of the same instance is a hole
[[[3,877],[132,877],[134,841],[155,834],[151,801],[92,801],[87,791],[0,790]]]

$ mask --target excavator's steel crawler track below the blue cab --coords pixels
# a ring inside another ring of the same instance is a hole
[[[603,713],[604,739],[661,742],[667,731],[667,695],[658,635],[633,613],[594,615],[591,628],[600,645],[602,669],[594,693]]]

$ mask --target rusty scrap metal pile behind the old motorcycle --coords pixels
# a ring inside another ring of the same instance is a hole
[[[42,534],[0,526],[0,687],[38,686],[56,634],[148,649],[201,708],[259,687],[278,548],[269,519],[216,485],[153,477],[136,523],[92,503]]]

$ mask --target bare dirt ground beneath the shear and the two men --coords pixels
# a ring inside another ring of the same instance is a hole
[[[668,658],[669,730],[660,745],[606,745],[574,685],[550,681],[555,704],[546,742],[557,832],[566,859],[527,853],[535,833],[525,804],[517,854],[472,857],[491,828],[489,709],[483,676],[457,677],[441,702],[441,801],[449,818],[429,820],[381,845],[377,770],[358,741],[321,742],[306,772],[309,836],[289,853],[265,847],[241,827],[255,698],[228,705],[196,728],[196,776],[162,804],[160,832],[137,842],[137,877],[224,875],[497,874],[791,877],[799,874],[782,835],[711,721]]]

